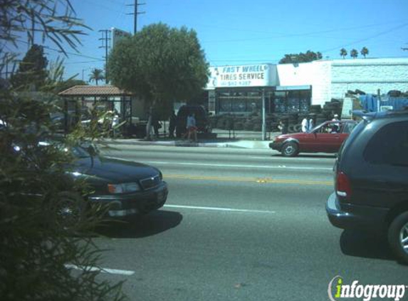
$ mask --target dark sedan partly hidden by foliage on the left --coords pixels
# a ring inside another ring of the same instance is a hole
[[[73,155],[73,162],[64,168],[65,178],[55,184],[60,190],[63,190],[64,183],[70,186],[68,183],[73,179],[84,180],[90,190],[84,197],[71,191],[62,191],[58,195],[56,210],[61,215],[61,222],[66,225],[80,218],[81,213],[86,211],[84,206],[108,205],[108,217],[125,218],[161,208],[167,200],[167,183],[155,167],[100,156],[92,145],[66,147],[53,141],[41,142],[38,146],[63,148]],[[14,151],[23,150],[14,146]],[[26,158],[25,155],[22,157]],[[25,160],[28,165],[33,162],[28,157]],[[31,191],[38,195],[38,191]]]

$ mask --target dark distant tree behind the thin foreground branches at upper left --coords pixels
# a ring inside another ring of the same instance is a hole
[[[27,51],[11,83],[19,90],[38,91],[46,83],[48,60],[43,46],[34,44]]]

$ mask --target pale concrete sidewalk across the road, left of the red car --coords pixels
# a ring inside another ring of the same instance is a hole
[[[182,146],[182,147],[209,147],[209,148],[258,148],[268,149],[269,143],[274,137],[280,133],[268,133],[267,138],[271,140],[262,141],[260,132],[250,131],[236,131],[235,138],[232,133],[228,131],[217,130],[214,131],[217,134],[217,138],[212,139],[199,139],[197,143],[189,142],[177,138],[162,138],[159,137],[153,141],[145,141],[140,138],[120,138],[120,139],[106,139],[108,144],[124,144],[131,146]],[[229,138],[231,137],[231,138]]]

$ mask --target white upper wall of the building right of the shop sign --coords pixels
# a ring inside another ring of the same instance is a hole
[[[312,86],[312,104],[344,98],[347,90],[365,93],[408,91],[408,58],[350,58],[278,65],[280,86]]]

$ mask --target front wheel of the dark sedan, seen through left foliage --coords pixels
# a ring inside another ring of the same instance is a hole
[[[75,228],[85,214],[85,202],[77,193],[62,192],[54,200],[58,224],[65,229]]]

